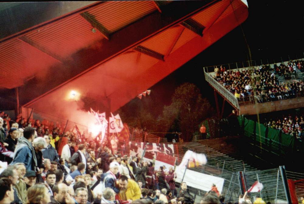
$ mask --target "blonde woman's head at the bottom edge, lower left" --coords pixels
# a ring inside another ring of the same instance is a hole
[[[27,204],[51,202],[50,193],[45,184],[35,184],[27,190]]]

